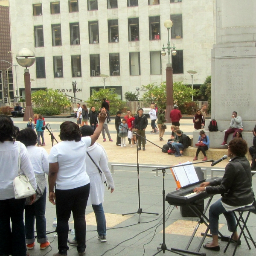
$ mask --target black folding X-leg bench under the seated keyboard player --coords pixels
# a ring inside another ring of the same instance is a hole
[[[236,223],[236,229],[237,229],[237,227],[239,226],[239,227],[240,227],[240,230],[241,230],[241,232],[240,232],[240,234],[239,234],[239,239],[238,239],[238,241],[236,242],[236,247],[235,247],[235,249],[234,249],[233,256],[234,256],[235,253],[236,253],[237,246],[238,246],[239,244],[241,244],[241,243],[239,243],[239,241],[240,241],[242,235],[244,236],[244,239],[245,239],[245,241],[246,241],[246,243],[247,243],[247,246],[248,246],[249,250],[251,249],[251,247],[250,247],[250,245],[249,245],[247,239],[249,239],[250,241],[252,241],[254,247],[256,248],[255,241],[253,241],[253,238],[252,238],[252,236],[251,236],[251,234],[250,234],[250,232],[249,232],[249,230],[248,230],[248,227],[247,227],[247,225],[246,225],[247,220],[248,220],[248,218],[249,218],[249,216],[250,216],[250,213],[251,213],[254,209],[255,209],[255,207],[252,205],[252,206],[246,206],[246,207],[244,207],[244,208],[239,208],[239,209],[236,209],[236,210],[233,211],[233,212],[234,212],[234,215],[235,215],[235,218],[236,218],[236,221],[237,221],[237,223]],[[246,215],[245,219],[244,219],[244,217],[243,217],[244,212],[247,212],[247,215]],[[237,217],[238,215],[239,215],[239,218]],[[245,233],[244,233],[245,230],[244,230],[244,229],[247,231],[247,234],[248,234],[249,237],[247,237],[247,236],[245,235]],[[233,241],[233,240],[232,240],[233,235],[234,235],[234,233],[233,233],[232,236],[230,237],[230,240],[229,240],[228,243],[227,243],[227,246],[226,246],[226,248],[225,248],[225,250],[224,250],[224,253],[226,252],[227,248],[229,247],[230,242]]]

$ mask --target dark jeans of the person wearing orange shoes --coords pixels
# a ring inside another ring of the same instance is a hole
[[[46,189],[41,198],[32,205],[25,206],[25,236],[26,243],[32,244],[35,242],[35,220],[37,241],[42,244],[47,242],[46,237],[46,218],[45,218],[45,204],[46,204]]]

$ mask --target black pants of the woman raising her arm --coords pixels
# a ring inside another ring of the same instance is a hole
[[[67,255],[68,220],[71,212],[74,218],[74,228],[77,251],[85,251],[85,208],[90,194],[90,183],[75,189],[55,189],[56,195],[56,214],[57,214],[57,233],[59,254]]]

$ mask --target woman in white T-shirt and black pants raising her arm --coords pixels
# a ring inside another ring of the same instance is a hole
[[[106,119],[105,108],[99,115],[99,126],[90,137],[81,138],[79,126],[66,121],[60,126],[61,142],[53,146],[49,154],[49,201],[56,204],[58,253],[67,255],[68,220],[73,212],[77,251],[85,255],[85,208],[90,193],[90,179],[86,173],[87,148],[101,134]],[[54,186],[56,188],[54,192]],[[56,200],[55,200],[56,199]]]

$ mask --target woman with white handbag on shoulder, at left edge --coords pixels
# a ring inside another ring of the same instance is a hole
[[[0,255],[28,256],[23,223],[26,198],[15,199],[13,188],[19,171],[19,144],[20,173],[29,178],[35,190],[37,183],[25,145],[15,141],[17,130],[9,116],[0,115]],[[35,195],[32,195],[31,203],[34,201]]]

